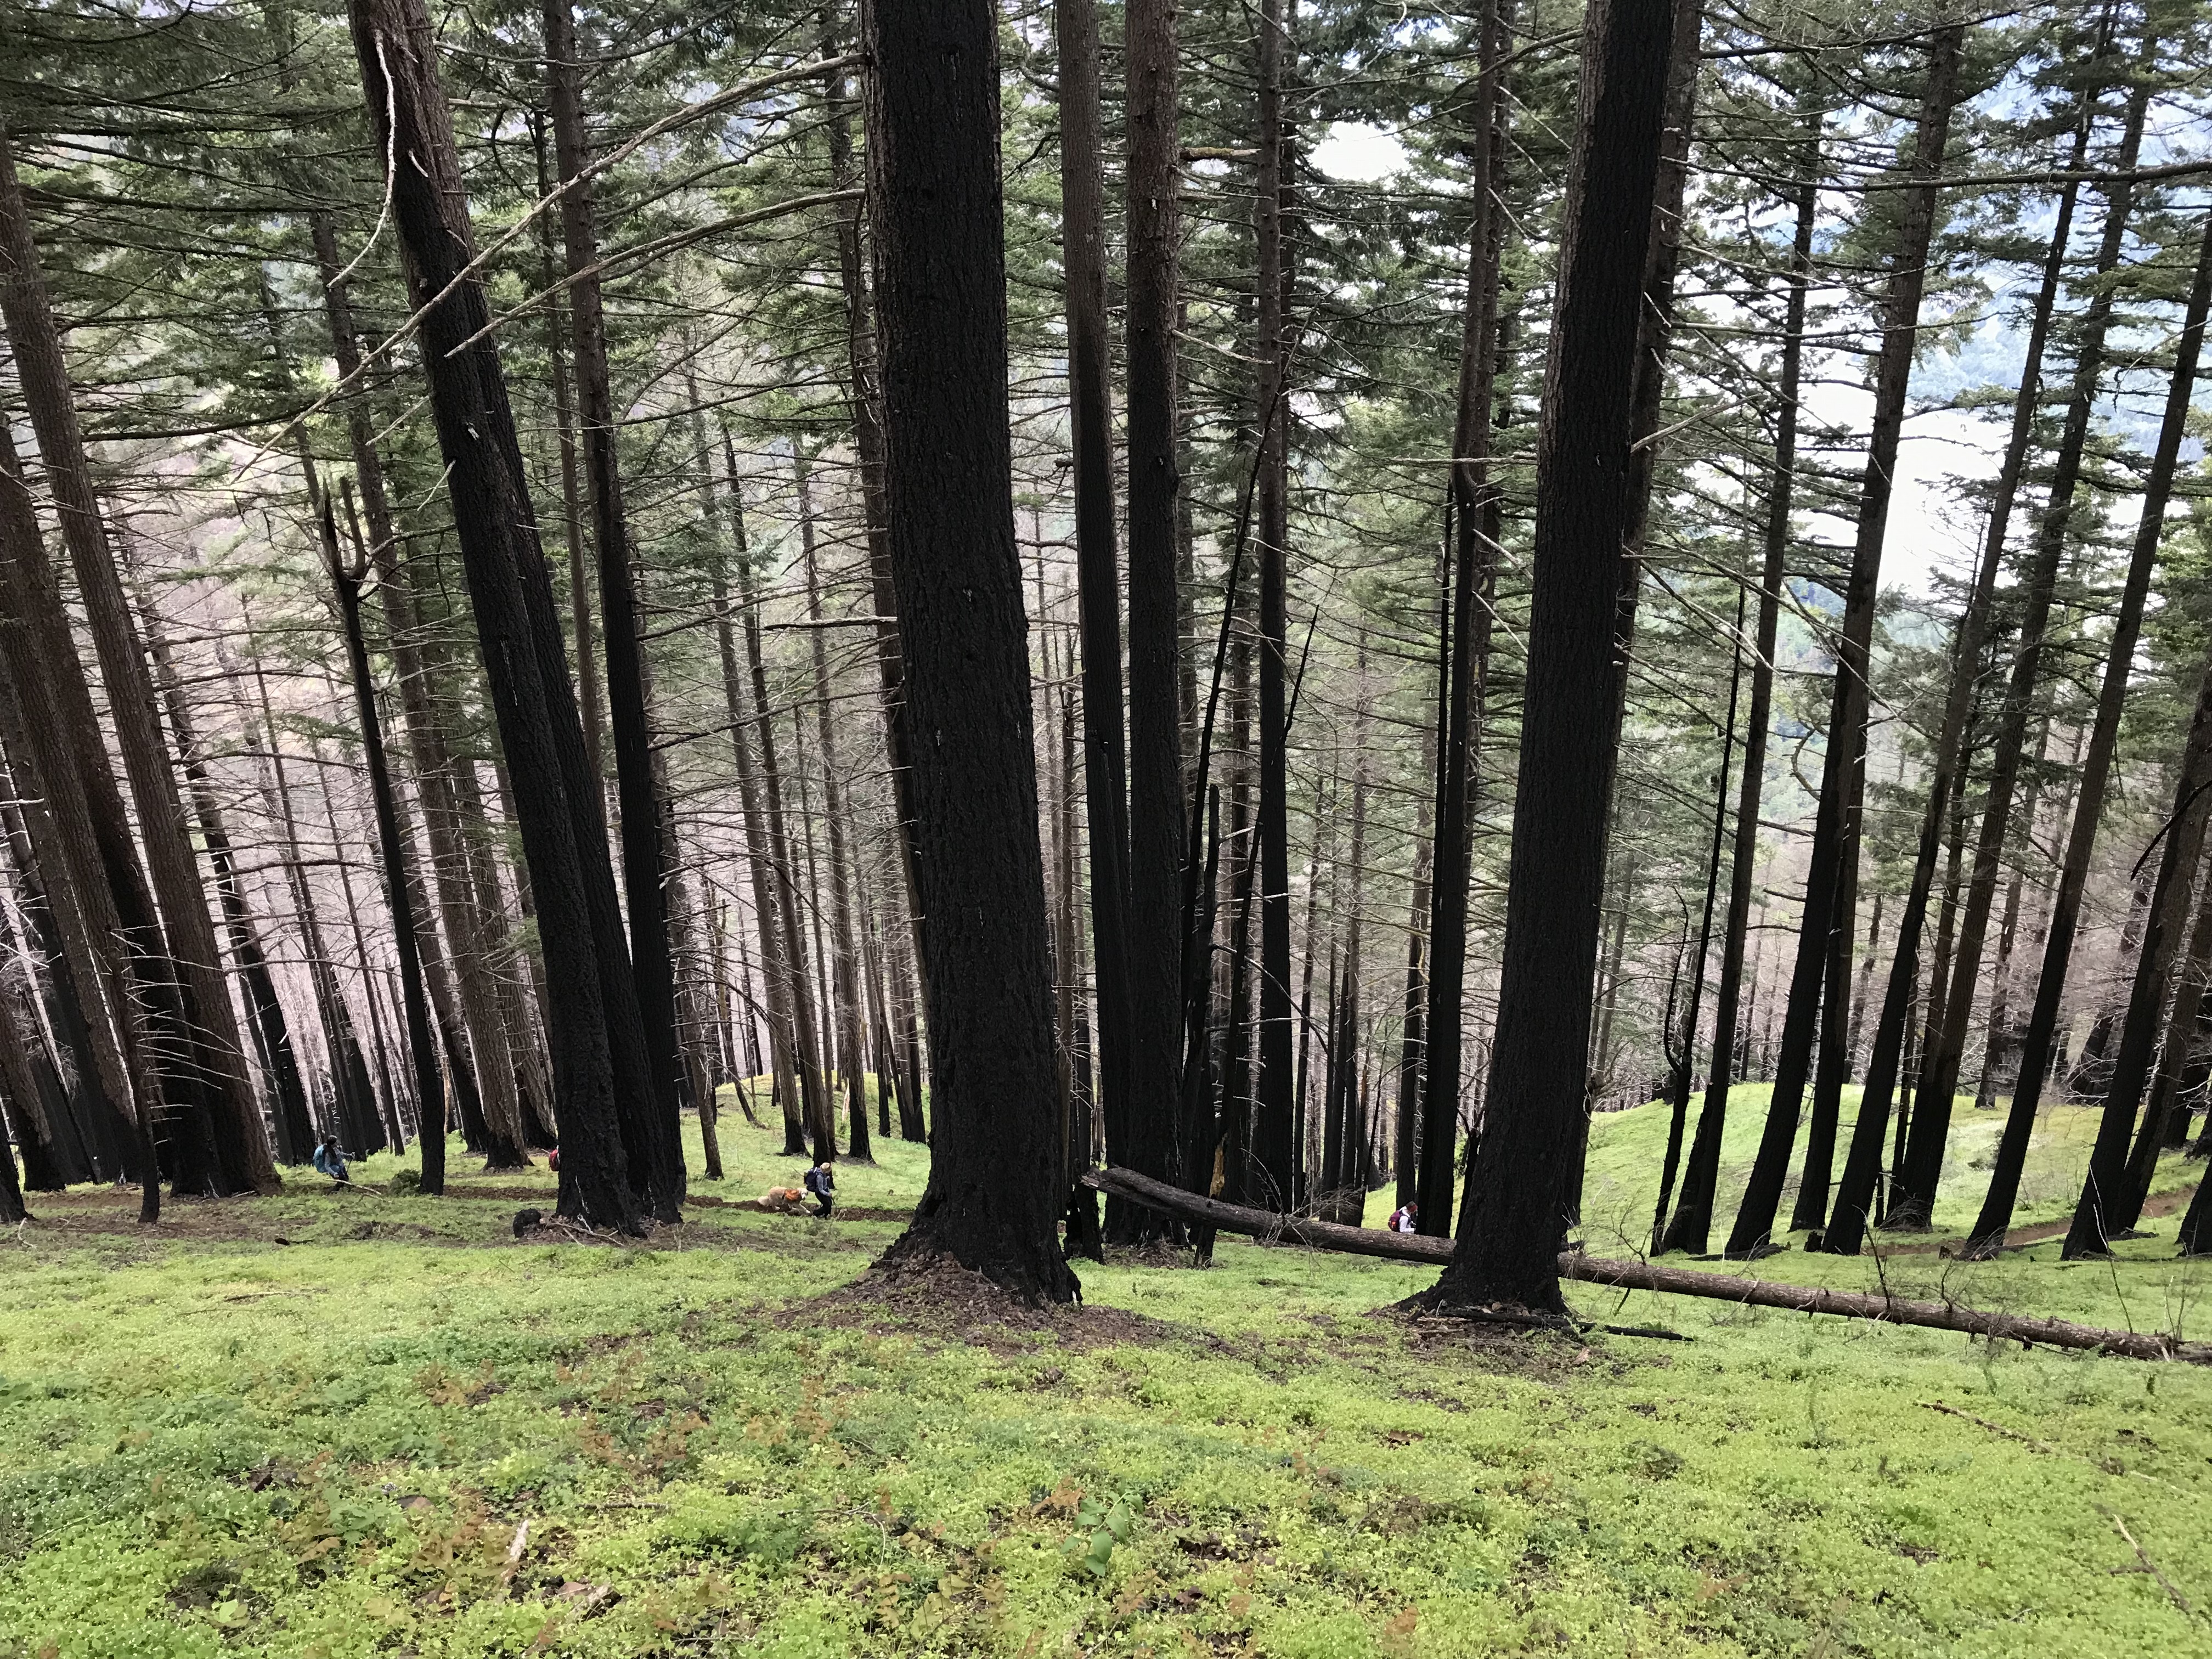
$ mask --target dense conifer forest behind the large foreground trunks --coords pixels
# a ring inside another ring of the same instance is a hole
[[[363,91],[374,20],[411,11],[0,11],[0,1091],[31,1188],[159,1164],[246,1190],[438,1113],[495,1166],[557,1139],[597,1168],[562,1084],[577,958],[522,823],[540,768],[502,737],[425,396],[460,347],[387,188],[420,157],[400,95]],[[2106,1102],[2099,1250],[2212,1053],[2205,15],[1686,11],[1586,1062],[1595,1110],[1668,1097],[1674,1137],[1650,1221],[1582,1221],[1717,1245],[1728,1088],[1761,1079],[1730,1252],[1927,1225],[1953,1093],[2020,1119],[1980,1241],[2039,1106]],[[1544,765],[1522,668],[1582,9],[1192,0],[1170,148],[1135,73],[1159,20],[998,7],[1062,1144],[1325,1214],[1396,1183],[1444,1234],[1515,776]],[[487,305],[467,345],[504,365],[670,1099],[710,1166],[717,1099],[816,1159],[920,1139],[858,22],[422,24]],[[1166,1064],[1113,1048],[1148,938]],[[1117,1068],[1172,1113],[1130,1117]],[[650,1139],[591,1219],[672,1219]],[[1150,1225],[1108,1208],[1117,1241]]]

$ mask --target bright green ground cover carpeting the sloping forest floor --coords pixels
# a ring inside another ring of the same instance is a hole
[[[796,1175],[721,1121],[699,1192]],[[2024,1221],[2070,1201],[2084,1124],[2051,1119]],[[1663,1133],[1599,1119],[1595,1250],[1648,1225]],[[841,1201],[911,1206],[927,1152],[878,1150]],[[150,1234],[126,1194],[33,1194],[0,1243],[0,1655],[2212,1650],[2205,1369],[1595,1287],[1686,1340],[1469,1338],[1376,1314],[1429,1270],[1230,1239],[998,1318],[854,1285],[896,1221],[515,1241],[533,1190],[296,1172]],[[2212,1336],[2212,1263],[2148,1232],[1761,1270]]]

